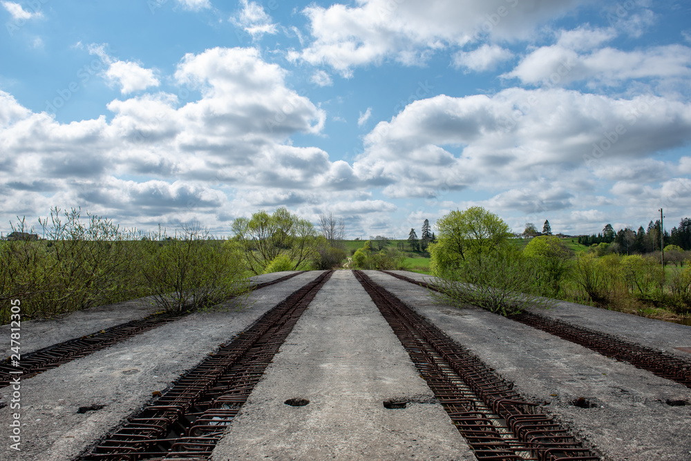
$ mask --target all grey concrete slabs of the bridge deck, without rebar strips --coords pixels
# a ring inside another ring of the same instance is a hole
[[[514,382],[526,398],[542,402],[543,411],[604,459],[691,460],[691,406],[667,403],[691,402],[691,389],[480,309],[434,304],[425,288],[366,273]],[[8,404],[0,409],[0,459],[75,459],[153,400],[154,391],[166,389],[317,275],[304,273],[262,288],[249,295],[249,307],[238,310],[229,302],[217,311],[194,313],[21,382],[20,453],[10,449],[12,389],[0,389],[1,402]],[[128,306],[97,308],[36,327],[22,324],[22,350],[149,314]],[[688,326],[565,303],[540,315],[691,357],[674,349],[691,346]],[[6,326],[2,334],[9,338]],[[288,398],[310,404],[287,406]],[[384,409],[382,402],[391,398],[413,403]],[[578,398],[593,406],[574,406]],[[77,413],[91,405],[103,407]],[[474,458],[369,296],[350,271],[339,271],[299,319],[211,459]]]

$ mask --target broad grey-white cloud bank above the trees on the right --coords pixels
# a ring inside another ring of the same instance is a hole
[[[660,97],[613,99],[556,88],[440,95],[377,124],[353,168],[390,197],[435,197],[480,182],[491,188],[644,159],[683,146],[690,133],[691,106]]]

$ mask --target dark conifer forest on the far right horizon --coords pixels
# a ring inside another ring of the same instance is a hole
[[[612,224],[607,224],[601,233],[598,235],[582,235],[578,237],[578,243],[590,246],[592,244],[616,244],[618,245],[618,253],[652,253],[660,251],[661,239],[661,224],[658,219],[656,222],[650,222],[647,229],[643,226],[638,230],[632,228],[619,229],[614,231]],[[691,218],[685,217],[681,219],[679,226],[672,228],[672,232],[665,230],[664,235],[665,248],[668,245],[676,245],[684,251],[691,250]]]

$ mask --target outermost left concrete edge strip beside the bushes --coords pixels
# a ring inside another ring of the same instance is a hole
[[[291,272],[276,272],[252,277],[255,283],[270,282]],[[28,320],[21,322],[21,353],[28,353],[53,346],[77,337],[91,335],[111,326],[131,322],[158,311],[152,297],[118,302],[77,311],[59,319]],[[10,325],[0,326],[1,337],[10,337]],[[9,357],[10,342],[3,342],[4,357]]]

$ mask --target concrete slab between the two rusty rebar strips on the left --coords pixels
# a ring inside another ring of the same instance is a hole
[[[0,389],[0,460],[73,460],[121,420],[164,391],[184,371],[243,331],[254,320],[311,282],[308,272],[251,293],[249,308],[236,302],[193,313],[87,357],[21,382],[21,452],[10,449],[12,387]],[[284,274],[285,275],[285,274]],[[104,405],[77,413],[79,406]]]

